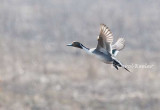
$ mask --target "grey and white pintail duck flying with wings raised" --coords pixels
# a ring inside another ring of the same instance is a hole
[[[118,70],[118,67],[122,67],[128,72],[130,72],[120,61],[115,57],[119,51],[125,47],[124,38],[119,38],[115,44],[112,45],[113,35],[106,25],[101,24],[100,34],[98,36],[98,44],[96,48],[87,48],[80,42],[72,42],[67,46],[73,46],[85,50],[87,53],[96,56],[98,59],[106,64],[113,64],[113,66]]]

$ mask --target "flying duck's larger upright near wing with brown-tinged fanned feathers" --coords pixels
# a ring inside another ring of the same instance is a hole
[[[103,53],[111,53],[112,54],[112,42],[113,42],[113,35],[106,25],[101,24],[100,26],[100,34],[98,36],[98,45],[97,50]]]

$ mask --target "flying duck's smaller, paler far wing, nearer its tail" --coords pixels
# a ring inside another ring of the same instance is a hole
[[[124,47],[125,47],[125,40],[124,40],[124,38],[119,38],[117,40],[117,42],[114,45],[112,45],[112,54],[114,56],[116,56],[119,51],[121,51],[122,49],[124,49]]]

